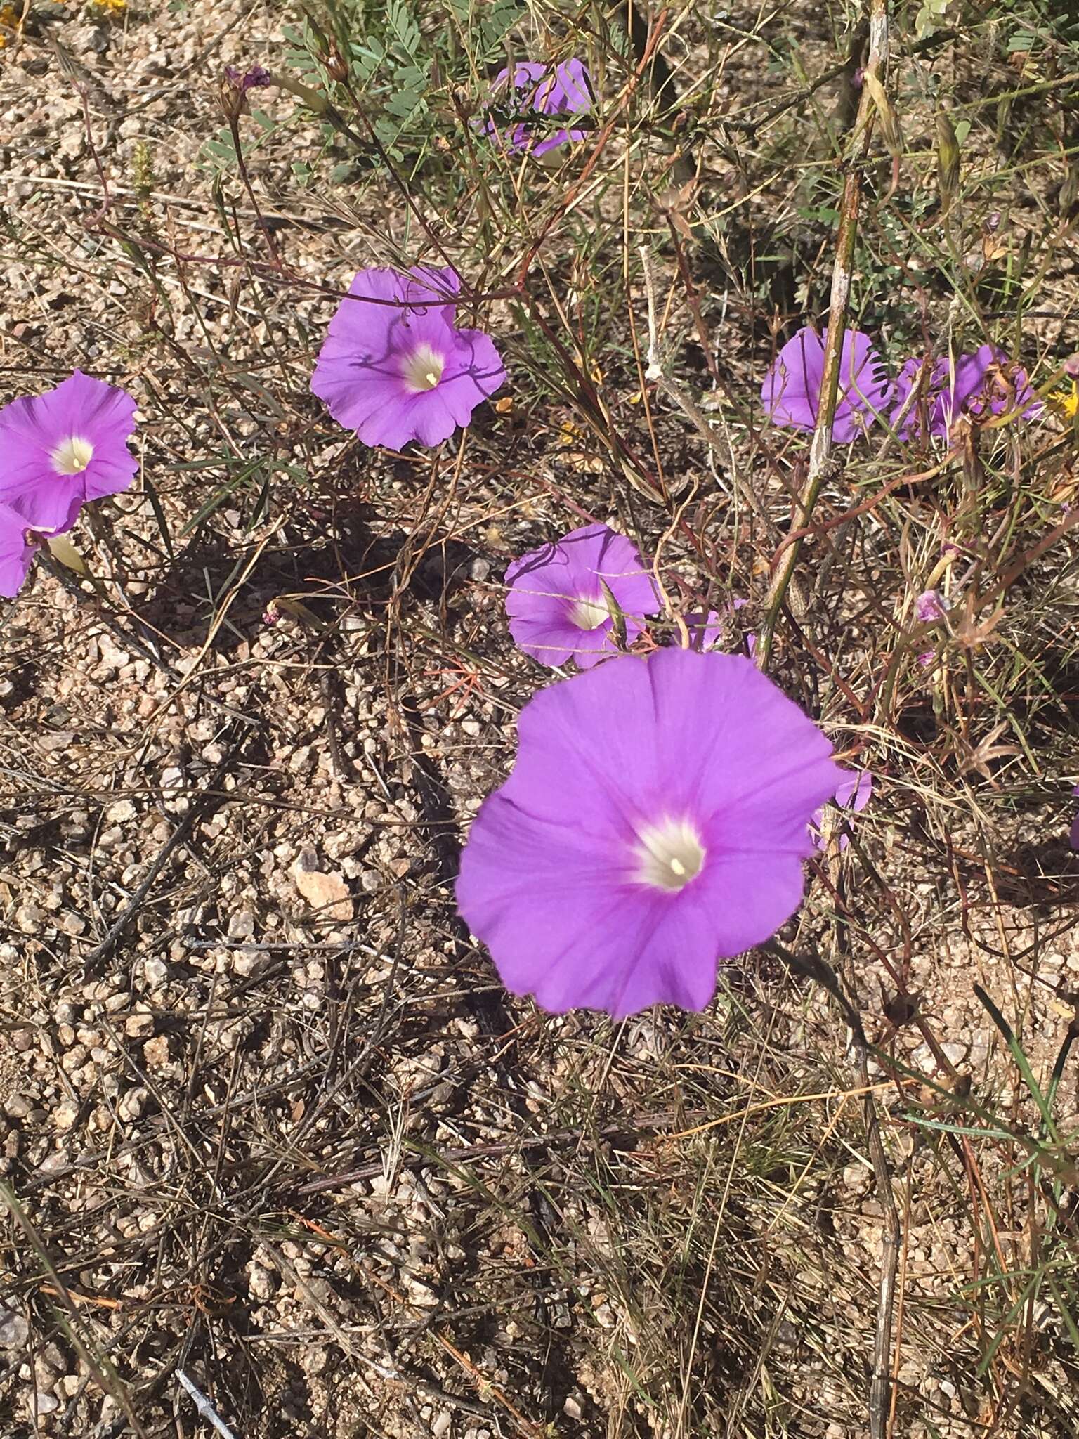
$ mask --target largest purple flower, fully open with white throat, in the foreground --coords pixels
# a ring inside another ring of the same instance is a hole
[[[739,655],[660,649],[563,681],[521,711],[457,907],[544,1009],[704,1009],[718,961],[801,902],[809,820],[842,777],[830,754]]]

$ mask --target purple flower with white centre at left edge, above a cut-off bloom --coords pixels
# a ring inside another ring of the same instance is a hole
[[[0,410],[0,501],[33,530],[70,530],[89,499],[127,489],[138,469],[128,449],[135,401],[76,370],[45,394]]]

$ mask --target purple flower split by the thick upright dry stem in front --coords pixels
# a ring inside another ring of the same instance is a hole
[[[827,328],[817,335],[804,327],[780,350],[761,386],[761,403],[774,425],[794,430],[816,427],[826,340]],[[891,393],[873,341],[860,330],[844,331],[832,439],[837,445],[853,443],[888,404]]]

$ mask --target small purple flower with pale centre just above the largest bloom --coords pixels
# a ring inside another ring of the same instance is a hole
[[[541,665],[575,659],[590,669],[617,653],[604,586],[623,613],[627,643],[645,629],[643,616],[660,607],[639,550],[607,525],[573,530],[521,555],[506,570],[506,584],[509,633]]]

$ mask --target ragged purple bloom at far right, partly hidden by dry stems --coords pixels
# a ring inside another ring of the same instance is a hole
[[[1020,410],[1023,417],[1029,419],[1042,409],[1042,401],[1030,389],[1026,370],[1010,366],[996,345],[980,345],[973,355],[957,355],[954,361],[937,360],[929,371],[924,396],[914,401],[899,425],[899,414],[922,368],[921,360],[908,360],[895,384],[892,425],[898,426],[896,433],[902,439],[921,435],[922,407],[928,432],[938,439],[948,437],[952,425],[962,413],[984,419],[988,414]]]

